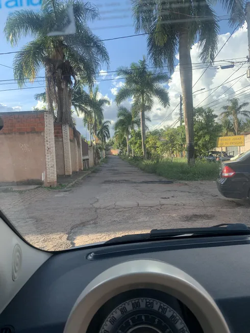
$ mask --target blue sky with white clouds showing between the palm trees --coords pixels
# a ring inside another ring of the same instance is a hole
[[[110,2],[106,0],[93,0],[91,3],[98,7],[101,15],[99,20],[89,23],[89,27],[98,37],[101,39],[112,39],[135,34],[130,1],[114,0]],[[34,94],[44,91],[44,79],[36,79],[34,83],[27,83],[26,88],[28,89],[18,89],[18,85],[13,80],[14,77],[12,69],[15,54],[1,55],[1,53],[16,52],[20,50],[24,44],[31,40],[31,38],[22,38],[20,39],[18,46],[11,47],[3,32],[8,14],[13,10],[20,10],[22,8],[39,11],[39,0],[0,0],[0,112],[30,111],[33,107],[42,107],[42,104],[37,103],[34,99]],[[214,9],[216,14],[220,17],[220,19],[222,19],[219,22],[219,50],[224,42],[227,41],[233,29],[228,26],[227,13],[224,12],[220,6],[216,6]],[[142,59],[143,55],[147,54],[146,36],[109,40],[105,41],[105,45],[110,56],[110,67],[107,68],[104,65],[102,66],[102,70],[97,78],[96,84],[99,85],[100,97],[105,96],[110,100],[110,105],[107,105],[104,108],[104,118],[105,120],[111,121],[112,135],[112,126],[116,120],[117,113],[117,106],[114,103],[114,98],[124,82],[124,80],[121,80],[116,76],[114,71],[121,65],[129,66],[132,62],[137,62]],[[199,60],[199,52],[200,50],[198,49],[197,44],[193,45],[191,49],[193,84],[198,80],[207,67],[205,64],[201,64],[201,61]],[[235,31],[216,57],[214,66],[210,66],[202,78],[194,86],[194,107],[212,107],[215,113],[219,114],[221,112],[221,106],[227,104],[228,98],[239,96],[240,100],[247,101],[249,96],[249,91],[247,89],[250,88],[250,86],[247,86],[250,83],[246,79],[246,75],[243,75],[246,73],[247,69],[247,64],[245,63],[246,56],[247,29],[246,26],[244,26],[243,28]],[[181,82],[178,59],[179,55],[177,54],[177,67],[171,75],[170,83],[166,85],[169,90],[170,107],[163,108],[159,104],[159,101],[155,99],[154,107],[148,114],[152,119],[151,123],[148,123],[150,130],[170,125],[179,117],[179,107],[177,107],[177,105],[180,100]],[[234,68],[221,69],[220,64],[229,64],[229,60],[235,62]],[[106,71],[111,71],[111,73],[107,73]],[[39,73],[39,75],[44,76],[43,70]],[[218,86],[220,87],[217,90],[211,90],[212,88]],[[203,90],[199,91],[200,89]],[[124,101],[123,105],[130,108],[131,99]],[[176,110],[168,116],[174,108],[176,108]],[[77,116],[75,116],[75,118],[78,131],[80,131],[85,137],[88,136],[82,123],[82,118]]]

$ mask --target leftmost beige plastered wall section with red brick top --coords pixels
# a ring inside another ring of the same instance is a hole
[[[44,112],[1,113],[0,183],[43,184],[46,174]]]

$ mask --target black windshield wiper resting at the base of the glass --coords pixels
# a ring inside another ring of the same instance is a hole
[[[124,235],[110,239],[107,243],[131,243],[140,241],[166,240],[171,238],[195,238],[217,236],[250,235],[250,229],[243,223],[223,223],[204,228],[152,229],[147,234]]]

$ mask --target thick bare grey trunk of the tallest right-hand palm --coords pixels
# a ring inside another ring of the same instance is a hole
[[[180,32],[179,55],[185,132],[187,142],[187,160],[189,164],[194,164],[192,62],[190,56],[190,46],[188,44],[187,28],[184,28]]]

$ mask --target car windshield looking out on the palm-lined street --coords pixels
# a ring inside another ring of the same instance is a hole
[[[221,149],[250,151],[244,1],[2,0],[0,15],[0,210],[28,242],[248,223],[249,169],[220,173]]]

